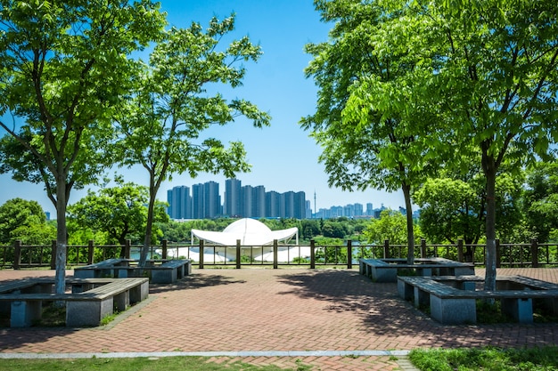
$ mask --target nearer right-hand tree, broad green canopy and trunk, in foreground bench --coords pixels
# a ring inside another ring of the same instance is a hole
[[[552,2],[529,0],[316,0],[316,7],[329,10],[335,17],[341,16],[354,30],[361,23],[354,20],[368,12],[367,21],[362,22],[368,27],[363,33],[365,37],[357,37],[356,31],[343,34],[337,28],[333,29],[332,37],[350,35],[349,40],[361,40],[360,45],[367,46],[366,55],[384,60],[391,57],[390,64],[383,64],[381,71],[396,71],[397,75],[393,76],[397,76],[398,82],[386,87],[379,84],[383,80],[374,76],[359,85],[363,81],[361,75],[354,69],[344,69],[347,65],[368,66],[355,52],[358,44],[348,50],[343,50],[342,44],[336,45],[339,58],[328,69],[322,69],[329,73],[323,76],[331,77],[332,83],[325,78],[318,80],[318,84],[329,86],[323,90],[319,103],[329,105],[332,115],[318,117],[322,120],[317,121],[331,127],[335,127],[331,124],[341,125],[339,117],[343,118],[343,109],[349,103],[347,92],[351,89],[355,89],[353,96],[358,99],[376,98],[377,92],[381,92],[379,98],[357,105],[356,112],[371,116],[380,107],[379,111],[387,114],[383,119],[395,118],[414,125],[426,119],[434,126],[436,133],[423,142],[428,150],[423,151],[419,146],[421,150],[407,152],[406,157],[435,158],[439,165],[449,167],[463,166],[463,157],[480,158],[480,169],[486,180],[485,288],[494,289],[497,175],[505,161],[508,171],[516,172],[537,157],[550,158],[549,145],[558,136],[558,9]],[[377,10],[373,12],[373,9]],[[326,13],[324,20],[335,17]],[[319,59],[328,55],[327,49],[315,51]],[[334,78],[337,76],[334,69],[344,74],[344,85]],[[338,92],[341,95],[335,95]],[[335,99],[329,100],[329,96]],[[414,120],[406,119],[409,116]],[[421,131],[425,129],[428,126],[423,126]],[[366,145],[349,141],[343,137],[344,133],[339,126],[318,139],[326,143],[339,140],[356,148]],[[407,138],[413,131],[407,129],[403,133],[403,138]],[[424,137],[413,138],[415,143]],[[338,154],[343,152],[350,153],[349,149],[343,149]],[[393,150],[384,153],[391,161],[400,158]],[[448,156],[452,154],[459,156]],[[343,157],[340,158],[342,164]],[[382,168],[369,157],[363,157],[363,162],[376,171]],[[412,161],[405,164],[410,164],[410,169],[421,167]]]

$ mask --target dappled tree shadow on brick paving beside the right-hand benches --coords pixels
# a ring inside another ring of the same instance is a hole
[[[327,302],[324,311],[353,315],[358,331],[378,336],[387,343],[429,347],[517,346],[554,343],[555,324],[533,326],[529,339],[525,325],[441,325],[412,303],[398,296],[397,284],[374,283],[353,270],[314,270],[278,277],[291,289],[280,294]],[[529,327],[529,326],[527,326]],[[529,328],[530,328],[529,327]]]

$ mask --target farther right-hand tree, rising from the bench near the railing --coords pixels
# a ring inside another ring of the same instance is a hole
[[[381,2],[316,0],[322,19],[334,22],[330,40],[308,44],[306,69],[318,85],[316,113],[301,125],[323,148],[319,160],[329,184],[343,190],[402,190],[406,202],[407,262],[414,262],[411,190],[429,173],[427,136],[435,115],[408,92],[415,56],[386,49],[394,31]],[[380,47],[379,47],[380,46]],[[430,126],[427,126],[430,125]]]

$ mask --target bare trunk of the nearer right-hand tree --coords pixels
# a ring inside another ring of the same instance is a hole
[[[484,289],[496,290],[496,161],[483,154],[483,171],[487,179],[487,250]]]

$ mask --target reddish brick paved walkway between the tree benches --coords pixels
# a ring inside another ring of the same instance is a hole
[[[498,274],[558,283],[558,269],[502,269]],[[53,271],[0,270],[0,281],[32,275]],[[417,347],[558,344],[557,324],[441,326],[401,301],[396,284],[373,283],[357,270],[193,270],[176,285],[151,286],[149,301],[122,317],[99,328],[0,328],[0,356],[249,351],[254,355],[207,359],[291,368],[300,359],[322,371],[394,370],[405,365],[390,355],[367,354]],[[274,356],[282,351],[369,353]]]

